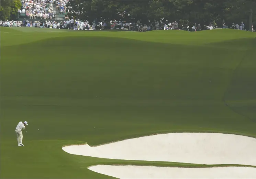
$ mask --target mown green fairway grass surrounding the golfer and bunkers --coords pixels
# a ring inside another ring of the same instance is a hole
[[[256,137],[255,33],[48,30],[1,27],[1,178],[111,178],[87,169],[98,164],[208,166],[77,156],[62,150],[69,144]],[[19,121],[29,123],[25,147]]]

